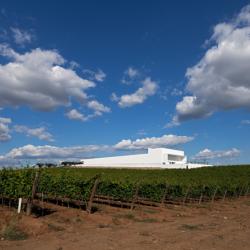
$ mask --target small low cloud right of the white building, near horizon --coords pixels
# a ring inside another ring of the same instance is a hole
[[[237,148],[232,148],[230,150],[218,150],[212,151],[210,149],[204,149],[195,155],[194,159],[196,160],[211,160],[211,159],[220,159],[220,158],[235,158],[240,155],[240,150]]]

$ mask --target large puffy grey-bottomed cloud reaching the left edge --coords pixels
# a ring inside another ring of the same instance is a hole
[[[10,60],[0,64],[0,107],[50,111],[70,106],[73,98],[83,103],[88,99],[85,91],[95,87],[93,81],[63,67],[65,59],[57,51],[37,48],[19,54],[0,44],[0,55]]]

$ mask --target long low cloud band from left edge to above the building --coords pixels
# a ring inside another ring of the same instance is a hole
[[[189,136],[163,135],[162,137],[146,137],[142,139],[122,140],[115,145],[83,145],[75,147],[57,147],[51,145],[25,145],[13,148],[4,155],[0,155],[0,165],[21,164],[24,160],[62,160],[93,156],[96,152],[112,152],[116,150],[140,150],[148,147],[164,147],[184,144],[194,138]]]

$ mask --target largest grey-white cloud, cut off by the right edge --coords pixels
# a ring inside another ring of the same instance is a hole
[[[190,95],[176,105],[175,122],[207,117],[216,111],[250,108],[250,5],[231,22],[214,27],[211,46],[188,68]]]

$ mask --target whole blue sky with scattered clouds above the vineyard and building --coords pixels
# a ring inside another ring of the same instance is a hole
[[[184,150],[250,162],[248,1],[1,1],[0,165]]]

